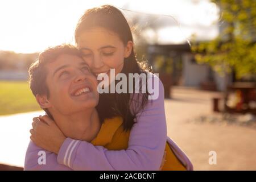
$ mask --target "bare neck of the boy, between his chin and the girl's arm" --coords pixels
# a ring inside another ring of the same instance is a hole
[[[97,137],[101,127],[98,113],[94,108],[71,115],[54,114],[53,118],[65,137],[87,142]]]

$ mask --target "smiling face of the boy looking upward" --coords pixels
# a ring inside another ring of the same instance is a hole
[[[98,104],[96,77],[79,56],[60,55],[46,69],[49,97],[44,107],[51,113],[68,115]]]

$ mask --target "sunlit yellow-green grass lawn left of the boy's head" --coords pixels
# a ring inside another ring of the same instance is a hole
[[[40,110],[27,81],[0,81],[0,115]]]

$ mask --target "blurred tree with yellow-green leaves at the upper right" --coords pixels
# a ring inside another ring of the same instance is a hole
[[[208,63],[220,73],[236,72],[241,78],[256,74],[255,0],[212,0],[220,9],[220,35],[192,44],[198,63]]]

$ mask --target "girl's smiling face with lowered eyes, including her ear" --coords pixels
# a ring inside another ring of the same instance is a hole
[[[77,46],[94,75],[107,73],[110,81],[110,69],[115,69],[115,75],[122,71],[123,61],[130,56],[133,42],[124,45],[114,32],[95,27],[80,34]]]

